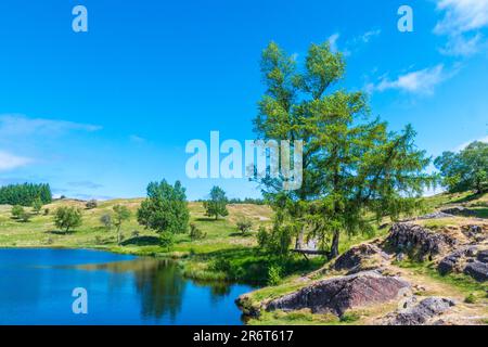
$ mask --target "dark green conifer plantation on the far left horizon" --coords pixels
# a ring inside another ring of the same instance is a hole
[[[52,202],[49,184],[24,183],[0,188],[0,204],[33,206],[36,201],[40,201],[42,204]]]

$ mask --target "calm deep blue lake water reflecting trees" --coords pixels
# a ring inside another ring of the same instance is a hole
[[[88,314],[72,292],[88,291]],[[86,249],[0,249],[0,324],[242,324],[246,285],[197,284],[175,264]]]

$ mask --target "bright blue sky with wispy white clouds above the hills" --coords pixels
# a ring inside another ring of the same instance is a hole
[[[72,9],[88,9],[88,33]],[[413,9],[413,33],[397,10]],[[49,182],[74,197],[143,196],[180,179],[188,141],[253,139],[259,57],[274,40],[297,61],[311,42],[345,52],[342,87],[371,94],[394,130],[429,155],[487,140],[488,0],[26,1],[0,3],[0,184]]]

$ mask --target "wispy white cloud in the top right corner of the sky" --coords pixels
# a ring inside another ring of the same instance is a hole
[[[437,11],[442,17],[434,33],[448,37],[441,53],[467,56],[486,44],[480,30],[488,27],[488,0],[439,0]]]

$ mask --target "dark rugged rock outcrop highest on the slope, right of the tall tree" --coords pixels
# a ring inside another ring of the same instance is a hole
[[[457,240],[448,234],[432,232],[412,223],[396,223],[391,227],[386,245],[397,252],[414,252],[423,259],[436,256],[457,244]]]

